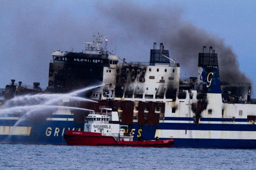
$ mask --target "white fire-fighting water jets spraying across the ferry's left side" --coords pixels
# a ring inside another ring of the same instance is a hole
[[[78,107],[69,107],[69,106],[58,106],[58,102],[62,102],[66,99],[68,101],[84,101],[84,102],[96,102],[94,100],[90,100],[87,98],[82,98],[76,96],[78,93],[86,92],[93,88],[98,88],[104,85],[96,85],[86,87],[80,90],[76,90],[74,92],[70,92],[68,94],[27,94],[23,96],[16,96],[15,98],[8,100],[0,109],[0,114],[7,113],[21,113],[23,116],[27,116],[30,113],[36,113],[37,115],[44,115],[44,110],[52,111],[54,109],[77,109],[83,111],[92,111],[90,109],[78,108]],[[46,111],[48,113],[48,111]],[[23,117],[22,116],[22,117]]]

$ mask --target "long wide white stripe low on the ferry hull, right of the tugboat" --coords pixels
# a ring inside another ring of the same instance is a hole
[[[190,138],[187,130],[157,129],[155,137],[159,138]],[[202,131],[192,130],[192,139],[256,139],[256,131]]]

